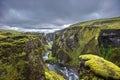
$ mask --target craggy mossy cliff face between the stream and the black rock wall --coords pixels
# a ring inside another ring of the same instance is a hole
[[[65,62],[64,64],[78,64],[77,59],[80,53],[84,54],[93,52],[94,54],[97,54],[97,52],[99,52],[97,49],[98,41],[96,39],[99,32],[100,28],[98,27],[85,27],[84,29],[81,29],[81,27],[78,26],[62,30],[62,32],[56,32],[56,36],[58,37],[53,41],[53,56],[56,56],[58,60],[60,59],[62,62]],[[60,51],[62,51],[62,53]],[[67,54],[66,58],[63,59],[63,57],[58,57],[63,54]]]

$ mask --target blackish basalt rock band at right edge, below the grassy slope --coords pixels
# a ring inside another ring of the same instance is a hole
[[[120,47],[120,29],[102,30],[98,41],[104,47]]]

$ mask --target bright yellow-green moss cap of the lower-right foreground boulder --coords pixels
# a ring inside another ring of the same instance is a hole
[[[120,79],[120,68],[102,57],[86,54],[80,55],[79,59],[81,66],[88,67],[97,76],[101,76],[104,79]]]

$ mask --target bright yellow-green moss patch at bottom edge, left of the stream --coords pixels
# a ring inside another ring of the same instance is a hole
[[[63,76],[54,71],[45,71],[45,77],[47,80],[66,80]]]

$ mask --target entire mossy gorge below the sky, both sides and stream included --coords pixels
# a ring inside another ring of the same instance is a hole
[[[0,30],[0,80],[119,80],[120,18],[54,33]]]

